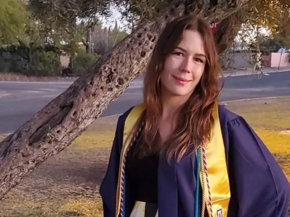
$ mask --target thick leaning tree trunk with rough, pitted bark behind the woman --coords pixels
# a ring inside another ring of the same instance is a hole
[[[91,66],[86,76],[76,80],[1,142],[0,199],[41,162],[71,144],[126,90],[145,69],[167,22],[191,12],[204,15],[210,22],[223,20],[236,13],[247,0],[227,0],[216,7],[212,2],[215,1],[172,1],[159,16],[140,25]],[[219,38],[228,36],[224,32]]]

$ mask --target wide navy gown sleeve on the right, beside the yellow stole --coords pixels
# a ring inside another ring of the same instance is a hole
[[[242,118],[228,122],[238,217],[286,217],[289,182],[274,156]]]

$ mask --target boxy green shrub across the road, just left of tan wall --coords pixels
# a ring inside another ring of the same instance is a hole
[[[36,51],[31,55],[29,75],[60,76],[60,55],[53,51]]]

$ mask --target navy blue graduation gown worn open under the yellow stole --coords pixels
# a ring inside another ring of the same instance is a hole
[[[104,217],[115,217],[123,129],[131,109],[118,119],[107,173],[101,183]],[[242,117],[219,105],[219,119],[231,191],[228,217],[288,216],[289,182],[273,155]],[[195,155],[185,156],[179,163],[173,160],[171,164],[164,157],[160,157],[159,217],[194,217],[195,188]],[[126,217],[134,206],[130,190],[130,183],[126,183]]]

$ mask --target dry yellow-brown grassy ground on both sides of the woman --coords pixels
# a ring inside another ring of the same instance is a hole
[[[290,127],[289,107],[290,97],[228,103],[250,123],[290,180],[290,135],[279,134]],[[43,162],[0,201],[0,216],[103,216],[98,189],[117,118],[96,120],[71,146]]]

